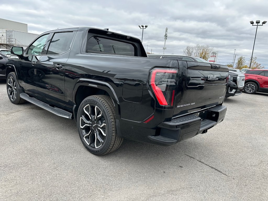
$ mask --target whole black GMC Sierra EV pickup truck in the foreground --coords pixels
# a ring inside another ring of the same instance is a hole
[[[124,138],[171,146],[224,120],[228,68],[148,58],[139,39],[108,29],[57,29],[7,62],[10,101],[75,119],[93,154]],[[45,118],[45,117],[42,117]]]

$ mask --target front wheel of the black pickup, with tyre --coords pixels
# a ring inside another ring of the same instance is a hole
[[[18,81],[16,74],[11,72],[6,79],[6,90],[8,92],[9,100],[14,104],[24,103],[25,100],[20,98],[20,92],[18,91]]]

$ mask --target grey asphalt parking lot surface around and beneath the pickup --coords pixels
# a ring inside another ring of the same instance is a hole
[[[98,157],[74,120],[12,104],[0,81],[0,200],[268,200],[268,94],[224,105],[206,134],[173,147],[124,140]]]

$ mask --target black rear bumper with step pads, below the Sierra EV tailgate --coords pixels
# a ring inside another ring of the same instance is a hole
[[[162,146],[172,146],[177,142],[189,139],[199,133],[206,133],[208,129],[224,120],[226,106],[216,106],[201,113],[162,122],[158,127],[158,135],[150,135],[151,143]]]

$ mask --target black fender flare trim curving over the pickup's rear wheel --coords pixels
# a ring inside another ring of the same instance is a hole
[[[80,78],[77,81],[77,83],[73,89],[73,103],[75,105],[76,105],[76,99],[75,99],[76,92],[80,86],[95,87],[95,88],[102,89],[102,90],[106,91],[113,101],[116,115],[120,116],[120,103],[119,103],[119,100],[117,98],[116,92],[114,91],[113,87],[109,83],[99,81],[99,80]]]

